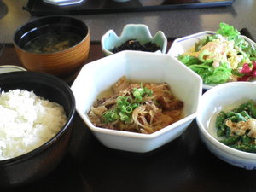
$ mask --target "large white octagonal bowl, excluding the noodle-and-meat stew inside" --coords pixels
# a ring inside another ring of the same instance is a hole
[[[87,113],[96,97],[124,75],[137,82],[169,84],[174,95],[184,103],[184,118],[152,134],[109,130],[93,125]],[[144,153],[171,142],[186,130],[195,119],[201,86],[201,78],[171,55],[122,51],[86,64],[75,79],[72,90],[77,112],[105,146]]]

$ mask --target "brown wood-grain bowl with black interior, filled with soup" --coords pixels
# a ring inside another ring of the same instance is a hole
[[[90,50],[90,30],[83,20],[45,16],[20,26],[14,44],[27,70],[62,77],[84,65]]]

